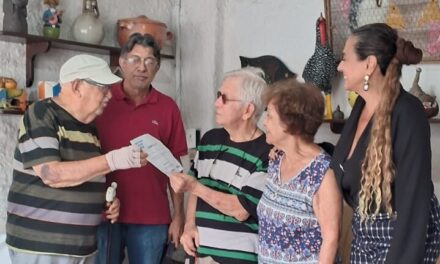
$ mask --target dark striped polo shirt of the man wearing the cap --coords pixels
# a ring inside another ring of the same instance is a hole
[[[96,226],[105,201],[105,178],[51,188],[32,166],[100,155],[96,129],[72,117],[52,99],[24,114],[8,194],[6,243],[31,253],[87,256],[96,251]]]

